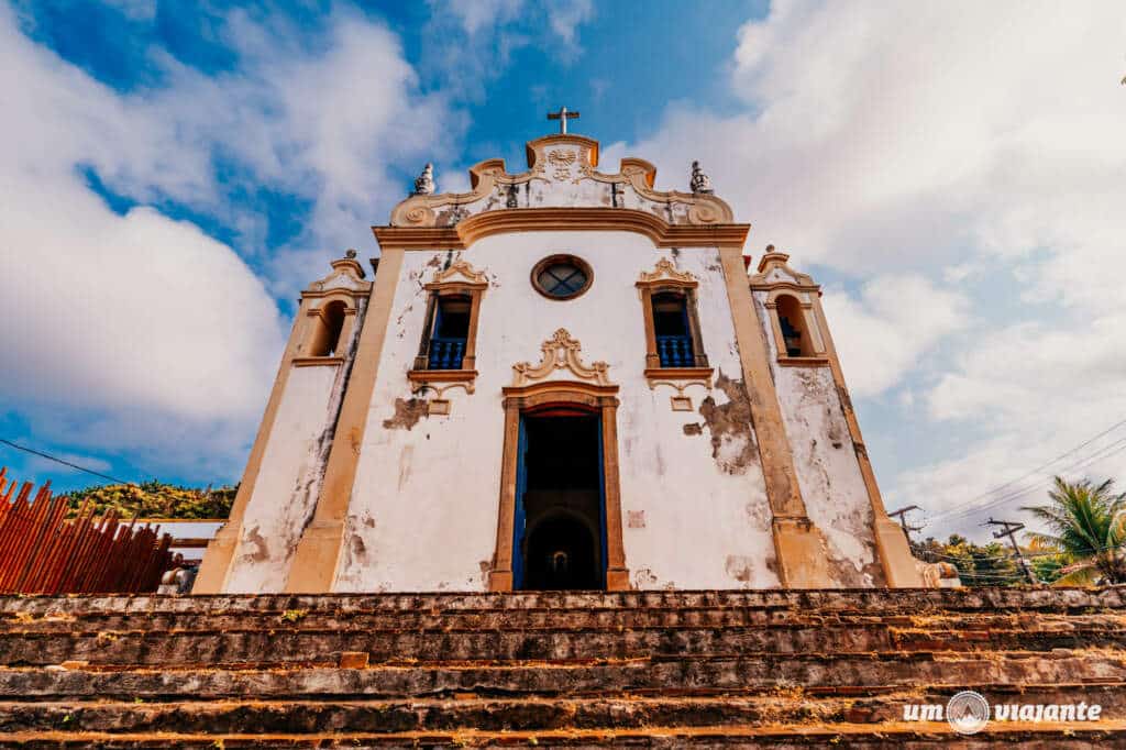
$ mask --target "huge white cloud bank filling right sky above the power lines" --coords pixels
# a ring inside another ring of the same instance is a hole
[[[905,385],[941,446],[883,472],[888,497],[937,510],[1126,417],[1121,10],[774,2],[739,34],[745,109],[676,104],[629,148],[676,187],[701,160],[757,243],[867,279],[825,298],[850,386]]]

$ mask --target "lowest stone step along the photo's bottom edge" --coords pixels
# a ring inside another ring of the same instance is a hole
[[[945,722],[834,724],[831,726],[656,726],[638,730],[592,729],[534,732],[402,732],[365,734],[114,734],[107,732],[21,732],[0,738],[0,748],[167,748],[169,750],[214,750],[215,748],[439,748],[439,747],[537,747],[537,748],[771,748],[790,750],[846,747],[852,750],[932,750],[955,747],[963,750],[1020,747],[1025,750],[1090,750],[1121,747],[1126,722],[1105,721],[1060,724],[1013,723],[991,725],[978,735],[964,738]]]

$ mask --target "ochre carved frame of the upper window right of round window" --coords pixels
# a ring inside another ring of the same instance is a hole
[[[654,270],[642,273],[636,287],[645,321],[645,378],[649,380],[650,386],[654,386],[659,381],[674,380],[709,383],[713,369],[708,364],[707,354],[704,351],[696,301],[699,280],[687,271],[678,271],[668,258],[662,258],[656,262]],[[653,297],[662,293],[672,293],[683,297],[685,313],[688,318],[688,336],[692,342],[691,367],[661,367],[661,357],[656,348],[656,324],[653,320]]]

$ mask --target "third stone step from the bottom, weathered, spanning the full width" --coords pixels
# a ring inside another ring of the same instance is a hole
[[[754,654],[575,662],[328,666],[278,669],[0,668],[2,699],[423,698],[488,696],[716,694],[801,685],[823,688],[957,685],[1117,684],[1120,653]]]

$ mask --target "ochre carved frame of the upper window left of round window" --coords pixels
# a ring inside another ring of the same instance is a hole
[[[423,287],[427,295],[426,319],[419,351],[408,378],[414,383],[473,383],[477,376],[477,320],[481,316],[481,300],[489,288],[488,277],[468,262],[459,260],[435,274],[434,280]],[[470,322],[465,333],[465,354],[458,369],[430,369],[430,340],[437,322],[438,304],[441,297],[461,296],[470,298]]]

